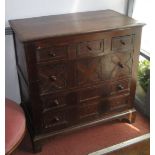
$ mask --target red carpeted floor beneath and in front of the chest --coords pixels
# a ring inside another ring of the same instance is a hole
[[[149,121],[138,113],[133,124],[116,120],[50,138],[44,142],[42,152],[35,155],[87,155],[146,133],[149,133]],[[34,155],[29,134],[26,134],[13,155]]]

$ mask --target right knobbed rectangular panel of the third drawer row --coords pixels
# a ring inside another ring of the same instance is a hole
[[[111,95],[130,90],[130,80],[120,80],[111,84]]]

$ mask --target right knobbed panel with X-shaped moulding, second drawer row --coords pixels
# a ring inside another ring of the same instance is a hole
[[[131,76],[132,53],[117,52],[109,54],[102,60],[102,72],[104,79],[119,79]]]

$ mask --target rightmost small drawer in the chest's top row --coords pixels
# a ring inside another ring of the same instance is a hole
[[[112,51],[126,52],[133,50],[134,35],[119,36],[112,38]]]

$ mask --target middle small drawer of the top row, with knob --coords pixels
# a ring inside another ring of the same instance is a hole
[[[104,40],[86,41],[78,44],[77,56],[104,54]]]

